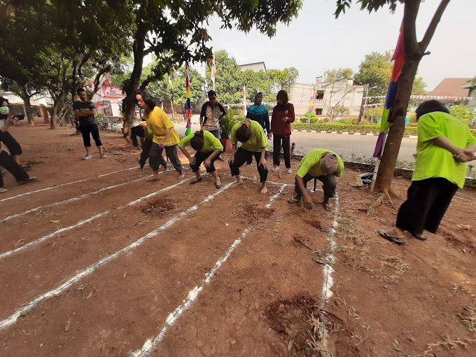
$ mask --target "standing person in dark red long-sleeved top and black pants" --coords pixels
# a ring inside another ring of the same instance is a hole
[[[290,135],[291,123],[294,122],[294,106],[288,103],[288,93],[280,90],[276,95],[278,104],[273,109],[271,118],[271,133],[273,135],[273,172],[279,170],[279,153],[283,146],[284,166],[286,174],[291,173]],[[268,137],[271,138],[271,133]]]

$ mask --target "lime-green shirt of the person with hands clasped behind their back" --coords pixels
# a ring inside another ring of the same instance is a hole
[[[476,142],[468,126],[447,113],[435,111],[421,116],[418,120],[416,164],[412,181],[442,177],[463,188],[468,165],[456,162],[452,153],[430,141],[443,135],[459,148]]]

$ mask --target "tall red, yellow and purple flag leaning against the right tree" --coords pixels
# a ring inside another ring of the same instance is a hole
[[[395,47],[395,52],[391,59],[393,62],[392,76],[390,78],[390,83],[388,84],[388,90],[385,98],[384,105],[384,114],[381,117],[380,122],[380,134],[377,139],[377,144],[374,149],[374,158],[381,158],[381,154],[384,149],[384,142],[386,139],[386,132],[393,125],[388,123],[388,114],[390,109],[393,107],[395,102],[395,96],[397,94],[397,84],[400,74],[402,74],[403,63],[405,62],[405,46],[403,45],[403,25],[400,27],[400,34],[398,34],[397,46]]]

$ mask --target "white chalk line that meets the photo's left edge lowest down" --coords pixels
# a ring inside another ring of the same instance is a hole
[[[33,309],[33,307],[35,307],[38,304],[38,302],[41,302],[45,299],[49,299],[50,297],[54,297],[54,296],[62,293],[64,290],[66,290],[66,288],[69,288],[74,283],[77,283],[78,281],[80,281],[80,279],[83,279],[85,276],[91,274],[98,267],[102,267],[102,265],[106,265],[109,261],[111,261],[115,258],[118,258],[119,255],[121,255],[121,254],[123,254],[127,251],[130,251],[133,248],[137,248],[138,246],[141,246],[141,244],[143,244],[144,241],[146,241],[147,239],[151,239],[152,237],[155,237],[155,235],[157,235],[160,231],[169,228],[176,221],[179,221],[181,218],[183,218],[184,216],[186,216],[190,212],[195,211],[200,204],[205,203],[205,202],[209,202],[216,195],[219,195],[219,194],[225,192],[225,190],[227,190],[231,185],[232,185],[232,183],[228,183],[228,185],[223,186],[223,188],[221,188],[221,190],[217,190],[216,193],[213,193],[212,195],[209,195],[207,198],[205,198],[204,200],[202,200],[198,204],[195,204],[195,206],[190,207],[189,209],[187,209],[186,211],[181,212],[180,214],[177,214],[173,218],[169,219],[169,221],[167,221],[164,225],[161,225],[159,228],[153,230],[152,232],[149,232],[144,237],[141,237],[140,239],[137,239],[137,241],[134,241],[134,243],[130,244],[129,246],[126,246],[125,248],[122,248],[119,251],[116,251],[116,253],[112,253],[111,255],[108,255],[106,258],[103,258],[102,260],[99,260],[99,262],[96,262],[93,265],[90,265],[90,267],[87,267],[86,269],[83,269],[82,271],[78,272],[78,274],[76,274],[75,276],[72,276],[67,281],[65,281],[60,286],[58,286],[57,288],[54,288],[54,289],[48,291],[47,293],[43,293],[43,294],[39,295],[38,297],[36,297],[36,299],[32,300],[28,304],[25,304],[21,309],[19,309],[13,315],[11,315],[10,317],[5,318],[4,320],[0,321],[0,329],[1,328],[6,328],[7,326],[12,325],[13,323],[15,323],[18,320],[18,317],[20,317],[20,314],[21,314],[22,311],[29,311],[29,310]]]

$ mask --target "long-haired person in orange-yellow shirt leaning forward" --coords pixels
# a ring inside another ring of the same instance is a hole
[[[182,164],[177,154],[179,133],[175,130],[172,120],[162,109],[155,106],[155,101],[148,92],[144,90],[137,91],[136,100],[141,109],[144,109],[144,118],[146,118],[148,129],[154,133],[151,151],[149,151],[149,164],[153,170],[153,177],[149,181],[158,181],[160,164],[167,165],[162,157],[164,148],[170,162],[179,172],[179,180],[183,179],[185,174],[183,174]]]

